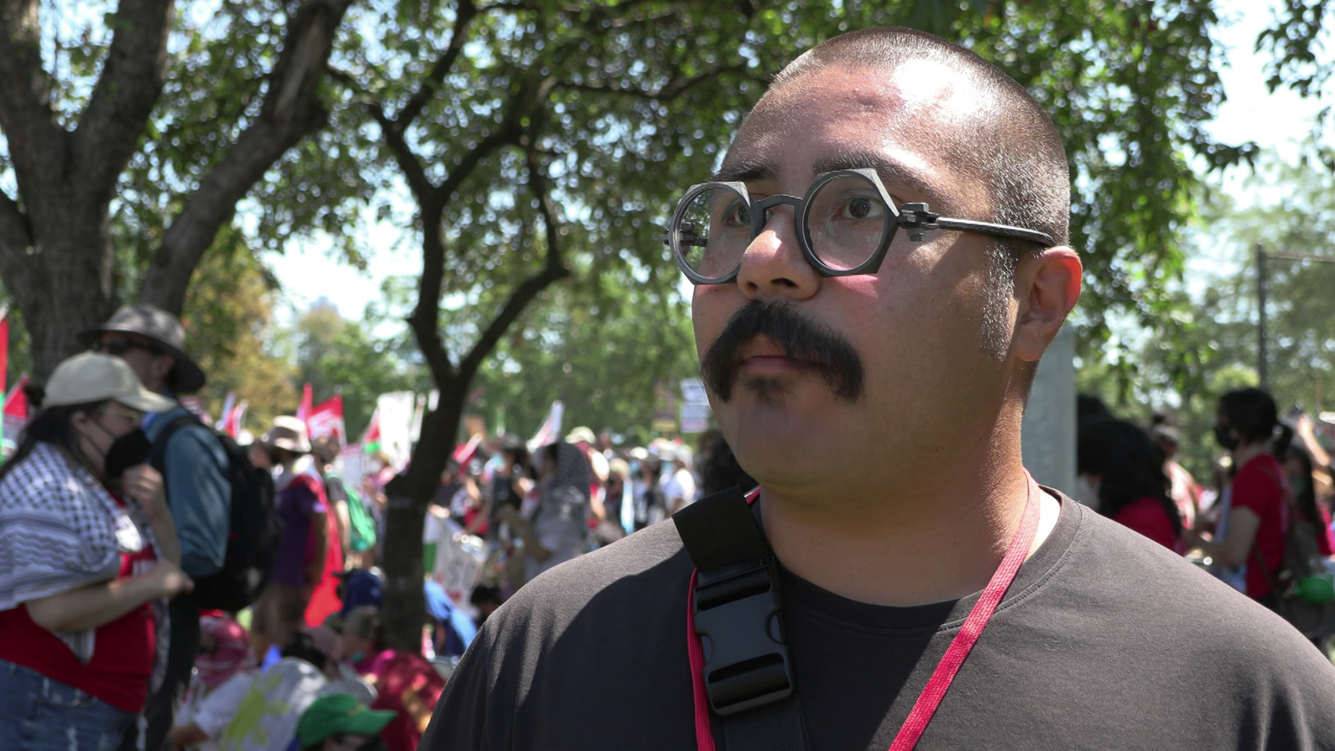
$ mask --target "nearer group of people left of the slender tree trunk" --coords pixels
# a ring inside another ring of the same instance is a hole
[[[162,310],[83,343],[0,465],[0,748],[415,748],[445,672],[387,643],[338,442],[292,417],[246,448],[208,428]]]

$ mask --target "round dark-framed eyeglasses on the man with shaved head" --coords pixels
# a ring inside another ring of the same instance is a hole
[[[690,186],[663,242],[692,283],[728,283],[737,278],[742,254],[764,231],[774,206],[794,207],[802,254],[821,277],[874,274],[900,227],[912,242],[921,242],[928,230],[957,230],[1056,245],[1035,230],[943,218],[932,214],[926,203],[897,206],[870,168],[817,175],[802,198],[772,195],[752,202],[746,183]]]

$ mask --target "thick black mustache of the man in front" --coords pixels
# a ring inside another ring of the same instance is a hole
[[[701,378],[718,398],[732,398],[742,365],[740,350],[758,335],[784,347],[788,357],[817,369],[836,397],[852,402],[862,396],[862,358],[842,334],[812,321],[790,303],[753,299],[733,314],[700,361]]]

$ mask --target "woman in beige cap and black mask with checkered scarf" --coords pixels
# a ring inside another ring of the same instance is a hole
[[[0,466],[0,748],[115,748],[160,679],[166,599],[191,588],[146,412],[117,357],[75,355]]]

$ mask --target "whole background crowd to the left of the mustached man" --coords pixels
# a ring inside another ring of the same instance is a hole
[[[542,572],[748,484],[717,433],[614,449],[577,428],[530,452],[477,441],[429,505],[430,633],[390,648],[380,608],[383,454],[340,476],[339,442],[280,416],[246,446],[182,406],[204,374],[150,307],[85,333],[28,389],[0,465],[0,747],[411,751],[479,624]],[[454,596],[430,576],[477,536]]]

